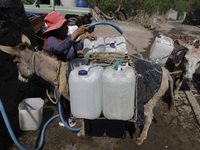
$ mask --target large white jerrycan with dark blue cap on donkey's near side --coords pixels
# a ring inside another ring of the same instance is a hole
[[[102,67],[79,66],[69,76],[71,113],[96,119],[102,112]]]

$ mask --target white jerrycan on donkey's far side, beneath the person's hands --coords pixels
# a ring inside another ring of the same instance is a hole
[[[102,37],[97,38],[97,40],[91,41],[89,39],[84,40],[83,55],[87,58],[88,54],[94,52],[104,52],[104,39]]]

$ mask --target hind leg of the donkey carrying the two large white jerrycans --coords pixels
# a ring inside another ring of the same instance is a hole
[[[144,123],[144,128],[142,130],[142,133],[140,134],[140,137],[137,138],[137,141],[136,141],[137,145],[141,145],[143,143],[143,141],[147,138],[147,133],[148,133],[149,127],[150,127],[150,125],[152,123],[152,119],[153,119],[153,108],[156,103],[157,103],[157,100],[152,98],[144,106],[145,123]]]

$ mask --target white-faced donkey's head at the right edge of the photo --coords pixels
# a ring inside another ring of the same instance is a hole
[[[179,41],[179,43],[188,48],[188,51],[185,55],[186,73],[184,77],[192,80],[193,74],[200,64],[200,40],[194,40],[191,45],[188,45],[182,41]]]

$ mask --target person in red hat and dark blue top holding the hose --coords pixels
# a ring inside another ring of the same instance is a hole
[[[51,51],[64,62],[76,58],[77,51],[83,49],[83,40],[77,42],[76,39],[89,30],[87,26],[90,24],[82,25],[72,34],[67,35],[67,25],[70,20],[66,20],[59,11],[53,11],[48,14],[44,18],[44,21],[48,26],[45,31],[44,48]],[[95,34],[88,34],[85,36],[85,39],[96,40],[97,36]],[[65,97],[61,96],[60,103],[63,119],[70,127],[73,127],[76,123],[70,118],[70,102]],[[61,121],[59,125],[64,126]]]

